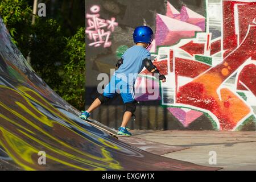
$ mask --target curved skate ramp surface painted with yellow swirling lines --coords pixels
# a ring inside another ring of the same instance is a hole
[[[0,169],[214,170],[129,146],[77,116],[36,75],[0,18]],[[40,151],[46,165],[39,165]]]

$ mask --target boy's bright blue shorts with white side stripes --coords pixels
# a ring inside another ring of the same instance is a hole
[[[134,87],[127,82],[122,81],[121,78],[112,76],[108,85],[104,89],[103,95],[105,97],[113,98],[115,94],[121,94],[124,103],[134,102]]]

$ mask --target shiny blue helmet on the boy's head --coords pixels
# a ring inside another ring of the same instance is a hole
[[[154,38],[154,32],[148,26],[136,27],[133,32],[134,43],[142,42],[142,43],[151,44],[153,38]]]

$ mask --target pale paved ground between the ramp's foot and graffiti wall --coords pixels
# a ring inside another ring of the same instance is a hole
[[[190,147],[165,154],[168,158],[185,160],[223,170],[256,170],[255,131],[132,131],[138,138],[172,146]],[[217,164],[209,164],[209,152],[216,152]]]

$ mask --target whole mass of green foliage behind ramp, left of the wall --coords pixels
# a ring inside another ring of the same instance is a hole
[[[31,1],[0,0],[0,15],[13,42],[24,57],[30,55],[32,68],[55,92],[77,109],[84,109],[85,28],[66,38],[67,32],[61,28],[64,24],[55,19],[36,16],[31,25],[28,3]]]

